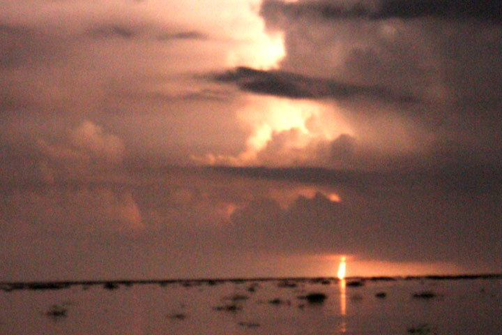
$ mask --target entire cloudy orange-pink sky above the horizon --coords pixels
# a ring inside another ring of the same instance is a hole
[[[0,6],[0,281],[502,271],[500,1]]]

